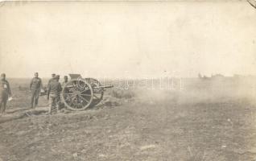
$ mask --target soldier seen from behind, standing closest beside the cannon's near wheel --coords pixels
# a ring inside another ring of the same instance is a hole
[[[57,111],[60,109],[60,92],[62,89],[59,80],[60,76],[57,75],[49,84],[47,91],[47,100],[49,101],[50,106],[49,114],[52,114],[52,109],[55,105]]]

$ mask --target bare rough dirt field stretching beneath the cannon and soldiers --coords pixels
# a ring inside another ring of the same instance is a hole
[[[1,161],[256,160],[250,78],[187,79],[182,90],[110,89],[93,109],[52,116],[46,97],[28,109],[27,80],[10,85],[14,100],[0,117]]]

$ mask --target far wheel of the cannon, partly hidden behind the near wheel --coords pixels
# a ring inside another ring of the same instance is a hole
[[[91,103],[90,107],[93,107],[94,105],[98,105],[104,95],[103,89],[98,89],[97,87],[101,86],[100,81],[97,81],[94,78],[86,78],[85,79],[93,88],[93,102]]]

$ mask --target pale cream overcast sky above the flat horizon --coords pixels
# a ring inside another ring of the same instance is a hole
[[[256,75],[256,10],[230,2],[6,2],[9,77]]]

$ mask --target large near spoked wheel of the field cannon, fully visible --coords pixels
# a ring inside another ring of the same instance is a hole
[[[93,102],[93,88],[83,79],[73,79],[64,85],[61,99],[68,109],[84,110]]]

